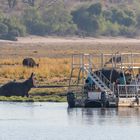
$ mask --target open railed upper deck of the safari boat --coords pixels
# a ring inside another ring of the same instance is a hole
[[[140,53],[114,53],[114,54],[73,54],[72,68],[89,67],[92,69],[113,68],[139,69]]]

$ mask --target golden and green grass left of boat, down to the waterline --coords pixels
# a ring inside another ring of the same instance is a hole
[[[34,58],[35,59],[35,58]],[[27,68],[22,66],[23,58],[1,59],[0,60],[0,84],[8,81],[27,79],[32,72],[36,75],[36,85],[57,85],[67,84],[70,73],[70,59],[36,58],[39,67]],[[62,89],[32,89],[29,99],[21,97],[0,97],[0,101],[66,101],[66,88]]]

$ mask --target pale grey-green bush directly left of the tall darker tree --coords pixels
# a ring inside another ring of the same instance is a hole
[[[73,23],[72,15],[61,2],[56,2],[53,7],[46,8],[43,21],[47,25],[48,34],[69,35],[77,30]]]

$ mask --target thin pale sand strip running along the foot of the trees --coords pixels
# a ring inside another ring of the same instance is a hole
[[[104,37],[104,38],[78,38],[78,37],[41,37],[28,36],[19,37],[18,41],[0,40],[0,43],[140,43],[140,39],[122,38],[122,37]]]

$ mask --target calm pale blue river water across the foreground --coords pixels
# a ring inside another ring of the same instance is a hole
[[[139,108],[0,102],[0,140],[139,140]]]

